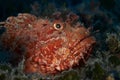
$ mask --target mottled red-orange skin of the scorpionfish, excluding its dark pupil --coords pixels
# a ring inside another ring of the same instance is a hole
[[[25,57],[25,73],[57,74],[89,57],[95,39],[75,22],[78,16],[69,14],[65,20],[58,13],[54,16],[50,21],[24,13],[6,20],[7,31],[1,41],[6,49]],[[56,24],[61,28],[56,28]]]

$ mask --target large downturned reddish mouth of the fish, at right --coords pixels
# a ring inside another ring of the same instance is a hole
[[[86,63],[86,60],[89,58],[95,43],[96,41],[92,35],[83,37],[82,39],[76,41],[70,49],[70,56],[74,56],[75,60],[78,62],[79,60],[82,60],[83,63]]]

